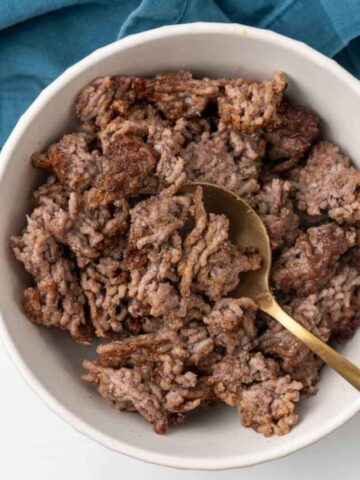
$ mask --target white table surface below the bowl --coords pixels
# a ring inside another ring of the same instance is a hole
[[[0,344],[0,480],[355,480],[360,414],[315,445],[224,472],[173,470],[114,453],[75,432],[30,390]]]

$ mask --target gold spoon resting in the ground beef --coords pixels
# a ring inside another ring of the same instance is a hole
[[[252,298],[263,312],[281,323],[321,360],[360,390],[360,368],[291,318],[272,295],[269,287],[272,260],[270,240],[266,227],[257,213],[234,193],[213,184],[192,183],[186,185],[183,191],[193,192],[198,185],[203,189],[206,211],[224,214],[229,219],[231,241],[242,249],[256,247],[262,258],[262,264],[258,270],[242,274],[241,282],[231,296]]]

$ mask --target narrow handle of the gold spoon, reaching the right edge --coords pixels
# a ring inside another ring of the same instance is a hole
[[[296,338],[301,340],[310,350],[312,350],[325,363],[330,365],[336,372],[345,378],[351,385],[360,391],[360,368],[351,363],[336,350],[329,347],[326,343],[315,337],[300,323],[291,318],[276,302],[272,295],[266,295],[259,298],[259,307],[264,312],[271,315],[283,327],[291,332]]]

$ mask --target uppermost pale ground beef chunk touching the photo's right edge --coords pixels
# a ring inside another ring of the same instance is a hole
[[[360,172],[337,146],[314,146],[305,168],[299,171],[298,208],[309,215],[326,211],[339,223],[360,220]]]

